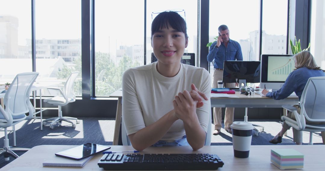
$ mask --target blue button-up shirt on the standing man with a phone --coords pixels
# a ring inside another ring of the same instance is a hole
[[[223,69],[224,61],[243,60],[241,47],[237,41],[229,39],[227,47],[223,42],[221,42],[221,45],[218,48],[215,47],[216,44],[217,41],[212,43],[209,49],[209,54],[207,56],[209,62],[212,62],[214,60],[214,68]]]

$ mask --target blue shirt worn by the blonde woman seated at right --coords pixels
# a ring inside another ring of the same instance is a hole
[[[300,97],[303,94],[308,79],[317,76],[325,76],[325,74],[322,70],[314,70],[306,67],[298,68],[288,75],[288,78],[278,91],[268,92],[266,96],[272,97],[275,100],[280,100],[288,97],[292,92],[295,92],[300,101]]]

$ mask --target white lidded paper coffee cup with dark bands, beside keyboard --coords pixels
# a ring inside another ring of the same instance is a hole
[[[230,128],[232,128],[234,156],[247,158],[252,143],[253,125],[249,122],[233,122]]]

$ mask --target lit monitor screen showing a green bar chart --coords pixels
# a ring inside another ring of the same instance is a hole
[[[294,68],[292,56],[269,57],[267,81],[285,81]]]

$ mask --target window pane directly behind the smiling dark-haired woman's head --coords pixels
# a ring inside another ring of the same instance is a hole
[[[156,0],[147,0],[147,64],[151,63],[151,23],[157,14],[152,12],[174,10],[181,11],[178,12],[186,20],[187,24],[187,34],[188,34],[188,47],[185,49],[185,53],[195,53],[197,57],[197,47],[198,47],[198,1],[195,0],[165,0],[164,3],[157,3]],[[176,10],[175,10],[176,9]],[[184,10],[184,11],[182,11]],[[195,61],[196,63],[196,61]]]

